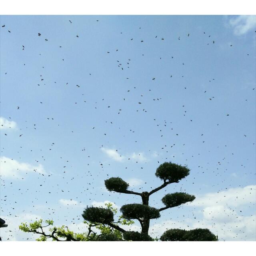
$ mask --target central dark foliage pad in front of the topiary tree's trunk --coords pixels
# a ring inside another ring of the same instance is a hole
[[[160,217],[158,209],[144,204],[125,204],[121,207],[120,211],[123,217],[128,220],[149,220]]]

